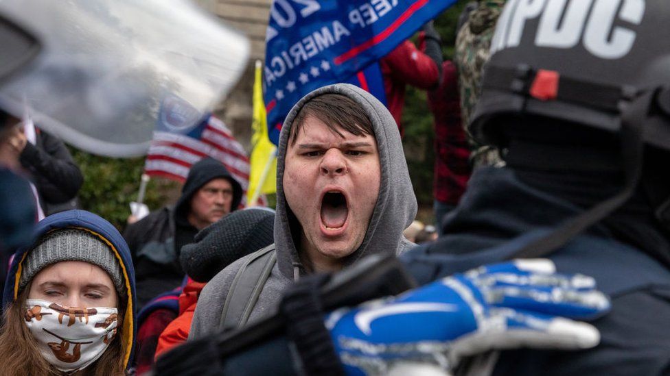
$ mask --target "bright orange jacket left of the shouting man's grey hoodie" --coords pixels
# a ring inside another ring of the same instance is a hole
[[[156,347],[154,359],[179,344],[186,342],[191,329],[193,314],[196,310],[196,303],[198,303],[200,291],[204,287],[204,283],[196,282],[189,278],[188,283],[184,286],[184,290],[179,295],[179,316],[165,327],[165,330],[163,330],[163,333],[158,338],[158,346]]]

